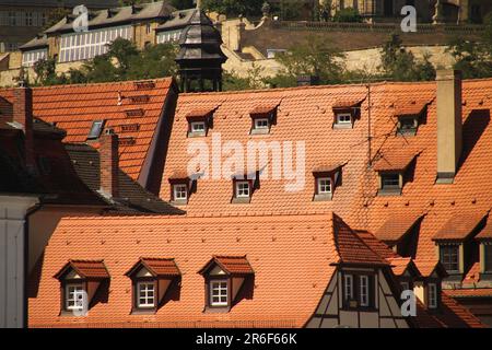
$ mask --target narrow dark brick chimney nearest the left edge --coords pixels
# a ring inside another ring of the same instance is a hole
[[[24,131],[24,160],[30,171],[34,171],[36,163],[34,158],[33,135],[33,91],[27,86],[14,89],[13,122],[22,126]]]

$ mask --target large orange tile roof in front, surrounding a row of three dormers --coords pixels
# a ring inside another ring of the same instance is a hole
[[[231,269],[224,257],[246,255],[255,271],[254,298],[241,300],[226,315],[203,313],[198,271],[214,255]],[[52,276],[73,256],[104,256],[112,275],[108,302],[94,305],[87,318],[59,316],[60,288]],[[173,257],[181,272],[179,300],[152,316],[129,314],[131,282],[125,273],[141,256]],[[301,327],[338,259],[331,214],[67,218],[46,247],[38,293],[30,300],[30,326]]]

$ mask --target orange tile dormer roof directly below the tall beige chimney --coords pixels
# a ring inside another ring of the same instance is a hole
[[[433,240],[466,240],[480,222],[487,219],[485,215],[488,215],[488,212],[456,213],[437,231]]]

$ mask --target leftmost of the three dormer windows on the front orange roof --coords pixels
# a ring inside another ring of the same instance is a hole
[[[109,273],[103,260],[69,260],[55,278],[61,283],[61,311],[71,314],[87,312],[95,295],[107,293]]]

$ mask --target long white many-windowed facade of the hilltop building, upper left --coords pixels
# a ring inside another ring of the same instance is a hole
[[[59,62],[91,59],[107,52],[107,44],[118,37],[133,38],[131,25],[90,31],[87,33],[70,33],[60,37]]]

